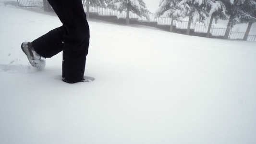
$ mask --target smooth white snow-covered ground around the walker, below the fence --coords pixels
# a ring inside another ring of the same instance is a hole
[[[20,45],[61,23],[0,5],[0,144],[255,144],[256,42],[89,20],[90,83]]]

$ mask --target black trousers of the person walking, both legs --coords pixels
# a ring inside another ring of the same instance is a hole
[[[32,46],[44,58],[63,51],[63,81],[79,82],[84,77],[90,38],[82,0],[48,1],[63,25],[34,40]]]

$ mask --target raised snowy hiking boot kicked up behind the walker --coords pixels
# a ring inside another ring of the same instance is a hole
[[[43,69],[45,61],[41,60],[41,56],[34,50],[31,42],[24,42],[21,44],[21,49],[26,54],[28,61],[33,67]]]

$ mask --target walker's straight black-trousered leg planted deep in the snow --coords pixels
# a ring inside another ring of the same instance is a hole
[[[62,79],[67,83],[80,82],[84,77],[90,37],[82,0],[48,1],[65,27]]]

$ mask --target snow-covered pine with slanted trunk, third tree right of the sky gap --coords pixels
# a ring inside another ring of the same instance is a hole
[[[206,36],[207,38],[209,38],[209,35],[210,35],[213,19],[215,19],[215,24],[218,23],[219,19],[220,20],[228,19],[228,15],[226,13],[226,7],[223,2],[213,0],[209,7],[210,7],[209,13],[212,13],[212,14],[211,14],[211,18],[210,18],[210,22],[207,30],[207,36]]]

